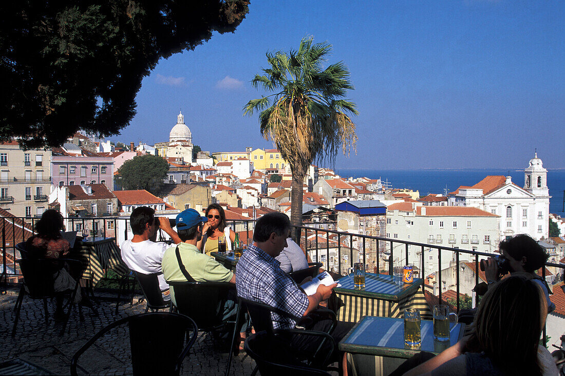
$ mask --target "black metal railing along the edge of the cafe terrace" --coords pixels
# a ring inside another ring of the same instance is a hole
[[[29,236],[31,236],[31,231],[21,231],[20,237],[16,239],[16,228],[21,228],[21,225],[18,225],[18,221],[25,221],[31,226],[30,228],[35,227],[35,222],[37,218],[16,218],[16,217],[5,217],[3,218],[5,221],[2,221],[2,228],[1,231],[1,245],[2,245],[2,281],[6,282],[8,276],[19,276],[20,271],[15,263],[15,259],[19,257],[19,253],[16,253],[15,245],[20,243],[21,241],[25,241]],[[249,239],[253,227],[254,227],[254,220],[238,220],[238,221],[228,221],[228,224],[232,226],[234,231],[237,232],[246,232],[247,236],[246,239]],[[7,226],[8,224],[12,224],[12,226]],[[21,222],[19,222],[21,223]],[[77,231],[78,235],[94,235],[94,236],[104,236],[104,237],[114,237],[116,244],[119,246],[124,240],[131,239],[133,236],[131,232],[131,228],[129,227],[129,218],[128,217],[88,217],[88,218],[65,218],[65,223],[67,226],[68,231]],[[77,226],[79,225],[79,226]],[[399,253],[403,257],[398,257],[401,260],[409,260],[408,257],[408,250],[409,248],[419,249],[420,250],[420,265],[419,272],[420,277],[425,278],[427,275],[432,273],[436,273],[435,280],[437,285],[440,286],[438,288],[438,299],[440,302],[444,301],[442,299],[442,257],[451,257],[453,261],[455,261],[455,265],[460,265],[460,258],[464,256],[468,256],[473,262],[474,261],[474,278],[475,284],[479,283],[479,261],[486,258],[492,257],[492,253],[485,253],[485,252],[477,252],[473,250],[466,250],[466,249],[459,249],[459,248],[450,248],[450,247],[442,247],[438,244],[426,244],[426,243],[416,243],[413,241],[406,241],[406,240],[399,240],[399,239],[388,239],[386,237],[380,236],[369,236],[369,235],[358,235],[358,234],[351,234],[349,232],[340,232],[340,231],[332,231],[332,230],[325,230],[324,228],[315,228],[315,227],[307,227],[307,226],[299,226],[296,227],[295,230],[299,230],[298,232],[301,233],[301,244],[302,248],[305,248],[306,252],[310,254],[312,258],[315,257],[316,261],[320,261],[323,259],[321,257],[325,254],[325,260],[323,260],[324,268],[325,269],[334,269],[336,265],[331,265],[330,263],[330,254],[336,253],[333,260],[337,261],[337,271],[338,274],[346,274],[347,270],[353,263],[354,255],[357,256],[360,260],[363,260],[365,265],[371,265],[370,262],[375,261],[375,265],[379,270],[381,268],[381,261],[383,263],[388,263],[388,267],[385,269],[386,273],[392,274],[392,267],[393,263],[389,262],[390,260],[396,260],[395,254],[398,255]],[[82,234],[81,234],[82,232]],[[333,235],[331,235],[333,234]],[[330,236],[336,237],[337,240],[330,239]],[[309,238],[313,237],[313,240]],[[323,239],[320,241],[320,239]],[[324,241],[325,240],[325,241]],[[368,244],[375,243],[378,244],[376,247],[375,258],[376,260],[371,260],[372,254],[370,255],[368,252]],[[356,247],[352,247],[352,245],[357,244]],[[403,249],[398,249],[403,248]],[[384,250],[384,251],[383,251]],[[402,254],[403,253],[403,254]],[[430,254],[437,255],[437,270],[426,270],[425,269],[425,261],[424,261],[424,253],[427,256]],[[347,254],[347,262],[342,261],[345,260],[343,257],[344,254]],[[445,259],[444,259],[445,260]],[[554,270],[563,271],[565,270],[565,265],[559,263],[551,263],[547,262],[546,267],[553,267]],[[456,304],[455,306],[457,309],[460,309],[460,267],[455,267],[455,291],[456,291]],[[445,271],[445,269],[444,269]],[[558,275],[560,273],[557,273]],[[545,279],[546,277],[546,268],[542,268],[541,276]],[[424,291],[425,284],[423,284],[422,289]],[[429,288],[429,287],[428,287]]]

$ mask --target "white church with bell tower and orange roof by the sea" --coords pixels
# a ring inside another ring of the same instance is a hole
[[[486,176],[471,187],[449,193],[447,205],[473,206],[500,216],[500,238],[528,234],[536,240],[549,236],[547,170],[537,152],[524,169],[524,186],[511,176]]]

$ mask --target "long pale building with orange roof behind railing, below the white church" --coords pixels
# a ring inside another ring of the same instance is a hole
[[[500,216],[478,208],[461,206],[420,206],[411,202],[398,202],[386,209],[386,237],[429,244],[421,253],[421,247],[408,245],[408,263],[421,265],[428,271],[438,270],[437,247],[461,248],[493,253],[498,249]],[[388,252],[390,252],[390,245]],[[393,259],[405,265],[405,244],[393,244]],[[441,267],[449,267],[455,260],[455,252],[443,251]],[[471,261],[471,257],[460,253],[459,260]],[[474,259],[473,259],[474,260]],[[396,266],[396,265],[395,265]]]

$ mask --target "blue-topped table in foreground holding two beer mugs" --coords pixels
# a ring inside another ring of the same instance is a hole
[[[338,344],[340,351],[347,352],[347,361],[354,374],[388,375],[403,361],[420,351],[438,354],[457,343],[463,336],[465,325],[451,323],[450,340],[433,339],[433,321],[422,320],[421,344],[409,347],[404,343],[404,319],[365,316],[344,336]]]

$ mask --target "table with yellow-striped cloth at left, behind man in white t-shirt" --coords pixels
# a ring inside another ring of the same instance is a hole
[[[119,276],[129,272],[121,260],[121,252],[114,237],[85,237],[81,241],[80,257],[86,266],[82,278],[90,280],[95,286],[107,269],[112,269]]]

